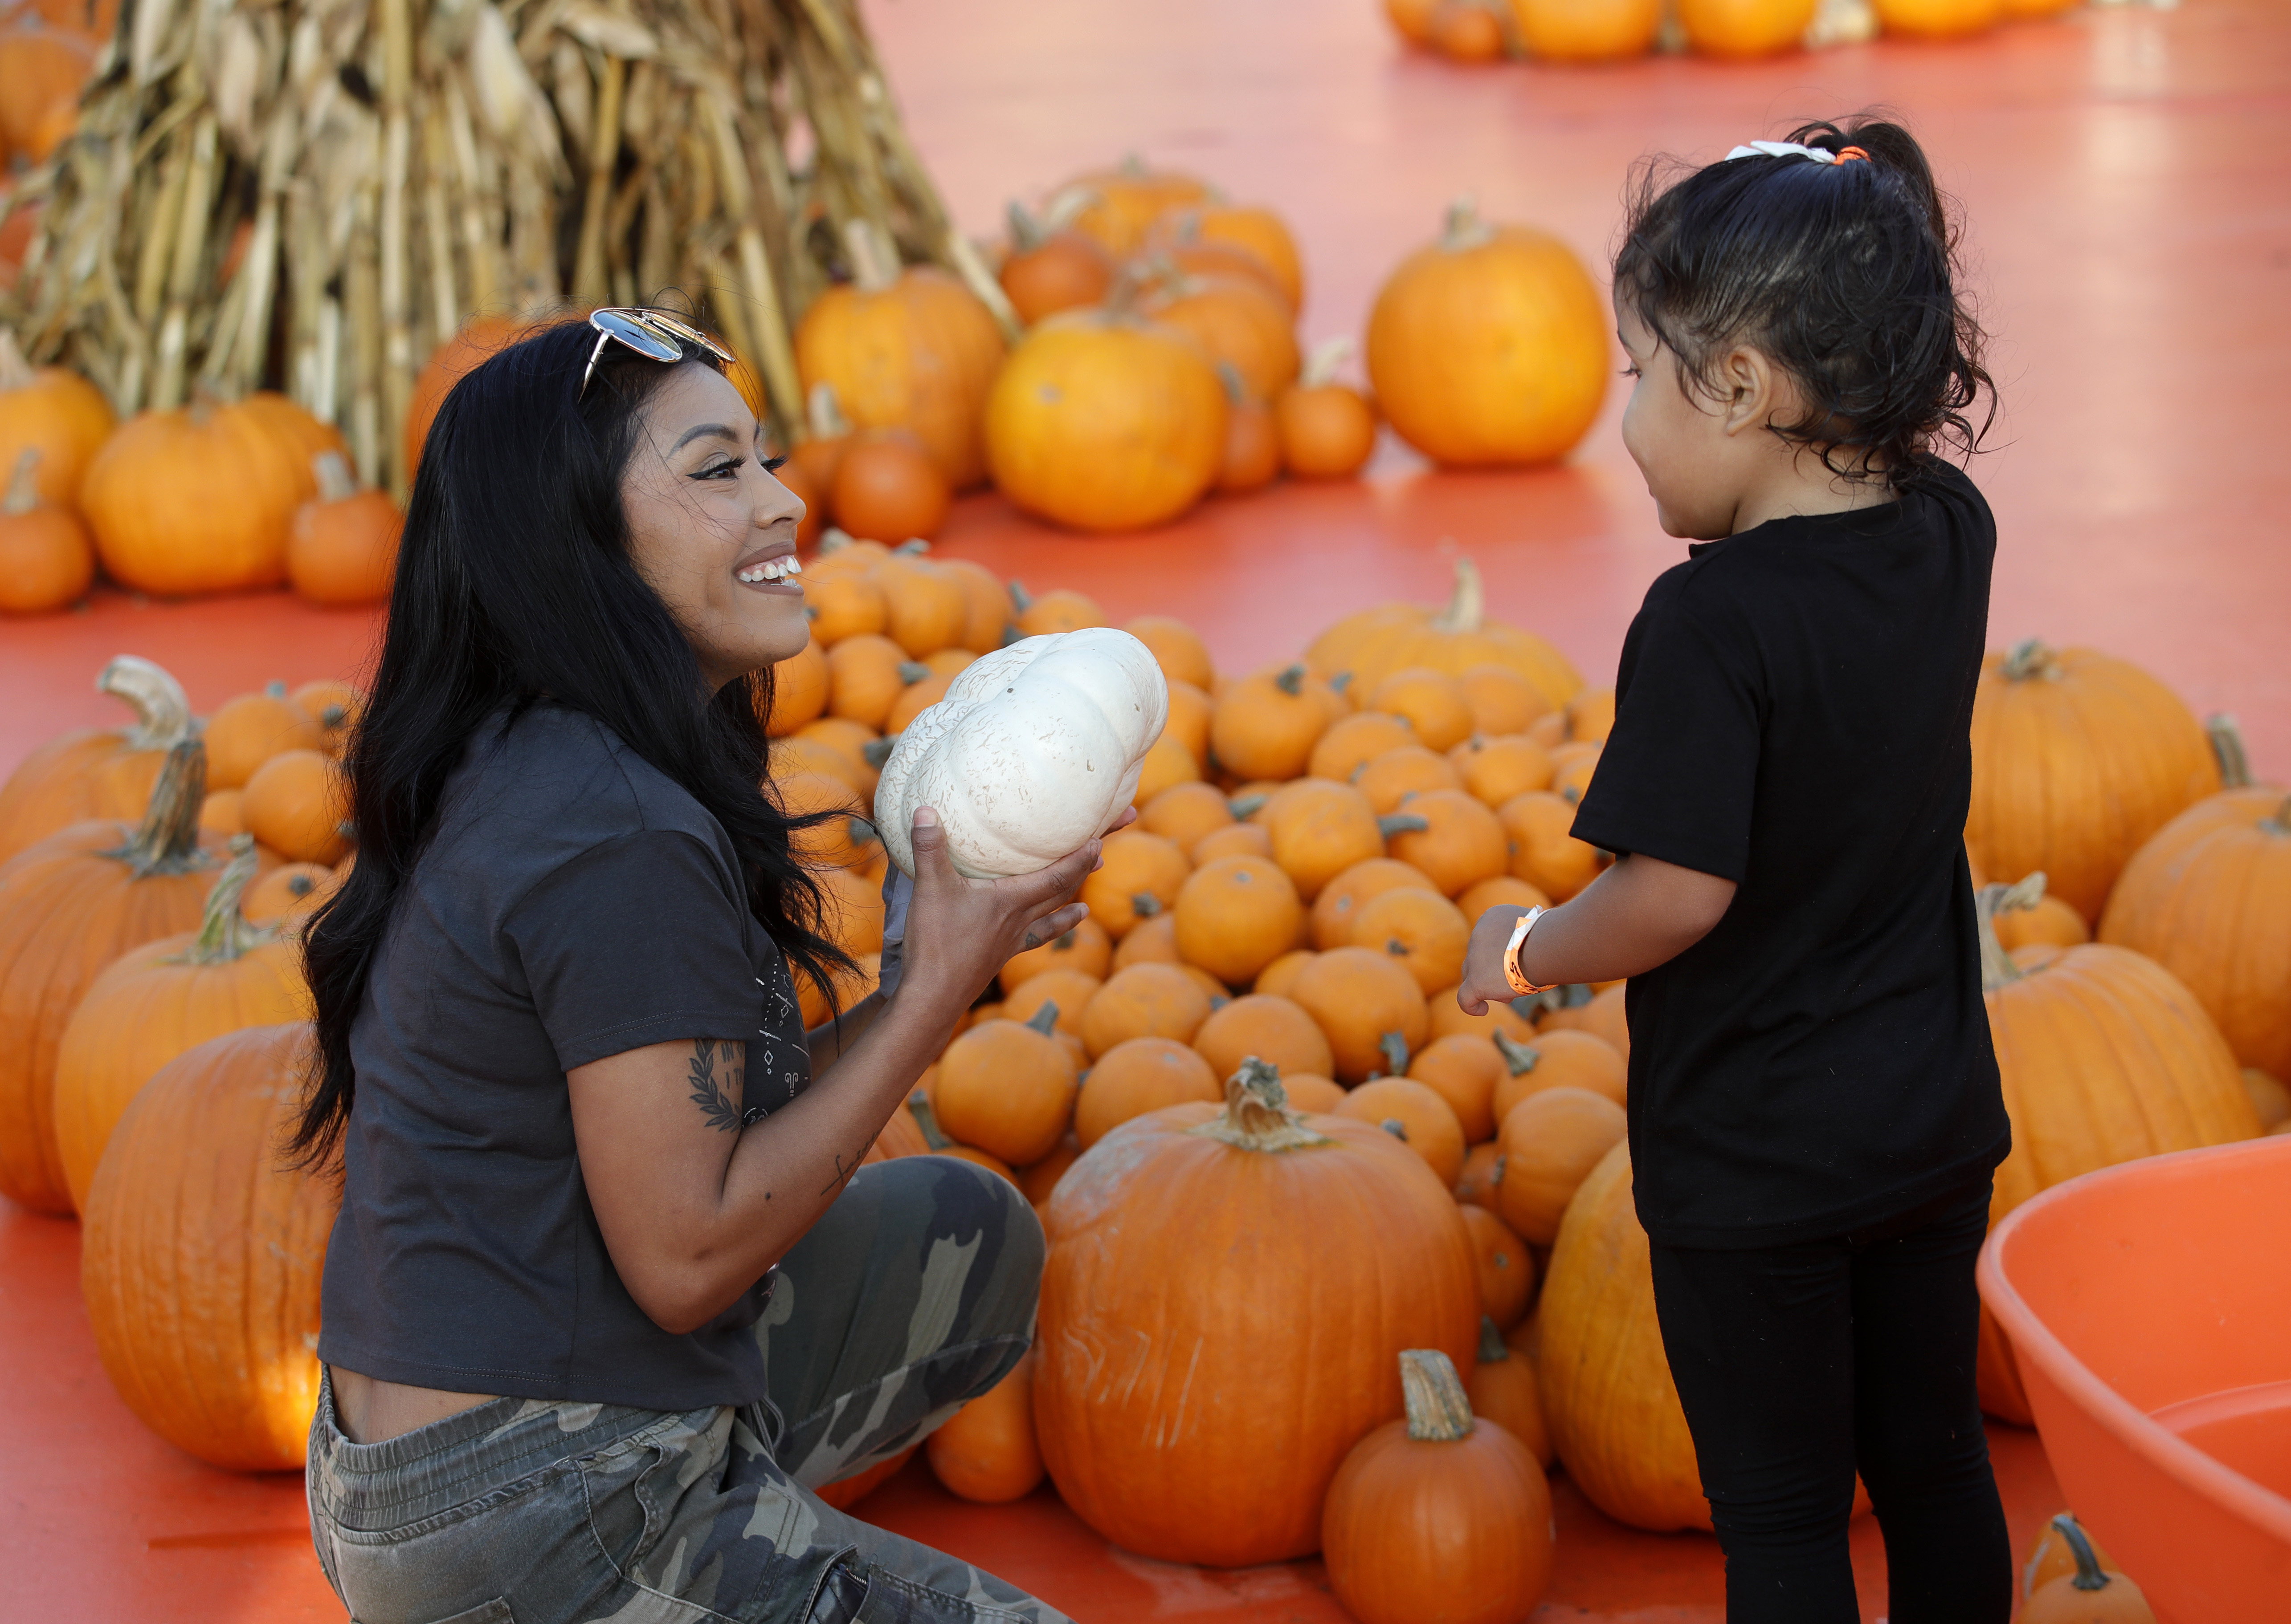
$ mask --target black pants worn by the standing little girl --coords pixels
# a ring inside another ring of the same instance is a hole
[[[1973,1361],[1989,1180],[1835,1239],[1652,1248],[1654,1308],[1725,1548],[1727,1624],[1856,1624],[1860,1471],[1890,1624],[2005,1624],[2011,1544]]]

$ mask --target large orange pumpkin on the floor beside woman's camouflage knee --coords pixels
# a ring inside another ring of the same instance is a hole
[[[1345,1454],[1402,1411],[1402,1349],[1478,1345],[1448,1191],[1379,1127],[1290,1113],[1269,1067],[1118,1127],[1045,1228],[1042,1459],[1084,1523],[1166,1562],[1315,1551]]]

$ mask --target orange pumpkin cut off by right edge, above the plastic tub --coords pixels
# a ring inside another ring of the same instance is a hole
[[[2108,893],[2101,941],[2147,953],[2204,1003],[2243,1065],[2291,1077],[2291,797],[2229,788],[2167,822]]]

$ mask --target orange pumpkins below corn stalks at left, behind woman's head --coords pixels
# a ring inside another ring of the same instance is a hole
[[[389,593],[399,509],[360,490],[341,433],[284,394],[195,396],[115,421],[0,330],[0,614],[66,609],[101,563],[160,598],[291,584],[321,605]]]

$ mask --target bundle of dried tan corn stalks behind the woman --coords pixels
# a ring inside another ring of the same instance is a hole
[[[472,314],[683,302],[800,433],[850,222],[1008,321],[852,0],[128,0],[0,316],[121,412],[277,387],[403,495]]]

